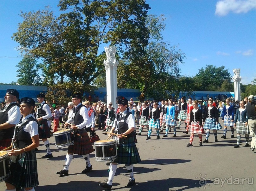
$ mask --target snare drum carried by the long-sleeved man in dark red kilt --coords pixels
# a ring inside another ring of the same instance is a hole
[[[63,129],[53,133],[56,148],[74,145],[74,141],[71,139],[73,132],[73,129]]]

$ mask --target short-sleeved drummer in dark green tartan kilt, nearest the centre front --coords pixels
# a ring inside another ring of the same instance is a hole
[[[133,135],[135,129],[135,118],[132,113],[127,110],[128,100],[126,98],[121,98],[117,101],[117,104],[120,112],[116,115],[115,122],[110,133],[114,133],[116,123],[118,122],[116,130],[119,134],[117,137],[120,139],[120,142],[117,146],[117,158],[109,165],[108,180],[104,184],[99,184],[101,187],[106,188],[105,190],[110,190],[112,187],[112,181],[115,176],[117,164],[124,164],[130,174],[127,186],[134,185],[135,179],[133,177],[133,164],[141,161]],[[122,135],[127,136],[127,138],[122,137]],[[111,134],[108,134],[108,137],[111,136]]]

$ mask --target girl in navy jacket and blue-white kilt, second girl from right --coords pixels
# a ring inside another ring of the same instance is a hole
[[[230,99],[226,99],[226,105],[224,106],[223,113],[222,113],[222,120],[224,124],[224,133],[221,136],[221,138],[226,139],[226,132],[227,132],[227,126],[230,126],[231,129],[231,137],[234,138],[234,114],[235,114],[235,108],[233,105],[230,105]]]

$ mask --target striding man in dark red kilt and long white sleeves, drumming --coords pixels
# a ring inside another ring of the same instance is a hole
[[[85,105],[81,104],[81,100],[82,96],[80,93],[75,93],[72,95],[72,102],[74,103],[75,107],[73,117],[67,122],[74,124],[70,127],[75,131],[74,145],[70,145],[68,148],[64,169],[56,172],[59,175],[69,174],[69,165],[73,159],[73,154],[82,155],[86,161],[86,168],[82,171],[82,173],[87,173],[92,170],[89,154],[94,152],[94,149],[86,131],[86,125],[90,123],[90,118],[88,116],[88,110]],[[65,127],[68,126],[68,123],[65,123]]]

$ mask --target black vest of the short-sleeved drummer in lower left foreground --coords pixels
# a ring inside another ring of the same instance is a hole
[[[26,119],[26,121],[23,122],[19,128],[16,129],[16,137],[15,138],[16,138],[16,143],[17,143],[17,146],[19,149],[23,149],[26,146],[29,146],[33,143],[32,139],[30,137],[30,134],[28,132],[24,131],[24,129],[23,129],[30,121],[35,121],[37,123],[37,121],[34,119],[34,117],[31,116],[28,119]]]

